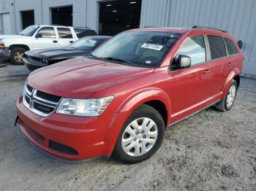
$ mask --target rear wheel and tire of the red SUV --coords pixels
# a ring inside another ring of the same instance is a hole
[[[232,88],[232,90],[231,90],[231,88]],[[235,93],[233,93],[233,90],[235,90]],[[237,87],[236,80],[233,79],[230,83],[230,86],[227,89],[227,94],[226,94],[225,98],[222,99],[222,101],[220,101],[219,104],[217,104],[215,106],[216,109],[218,109],[219,111],[222,111],[222,112],[227,112],[228,110],[230,110],[235,103],[237,90],[238,90],[238,87]],[[233,99],[233,101],[231,103],[229,102],[230,96]]]

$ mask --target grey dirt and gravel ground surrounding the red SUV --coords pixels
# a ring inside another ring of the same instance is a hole
[[[0,190],[256,190],[256,80],[241,79],[230,112],[207,109],[167,130],[143,163],[69,165],[37,152],[13,126],[27,73],[0,68]]]

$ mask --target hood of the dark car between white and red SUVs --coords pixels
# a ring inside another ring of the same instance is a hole
[[[27,55],[33,55],[38,58],[68,58],[77,55],[86,55],[89,51],[78,50],[69,47],[56,47],[39,50],[30,50]]]

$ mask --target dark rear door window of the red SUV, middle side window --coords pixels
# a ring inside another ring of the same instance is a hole
[[[211,60],[226,56],[225,44],[220,36],[208,35],[211,50]]]

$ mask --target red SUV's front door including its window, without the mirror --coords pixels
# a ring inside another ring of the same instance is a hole
[[[187,69],[170,71],[174,77],[171,122],[176,122],[195,112],[207,97],[207,85],[211,79],[211,63],[206,62],[206,46],[202,35],[188,37],[182,44],[178,55],[191,58]],[[177,62],[177,59],[173,64]]]

